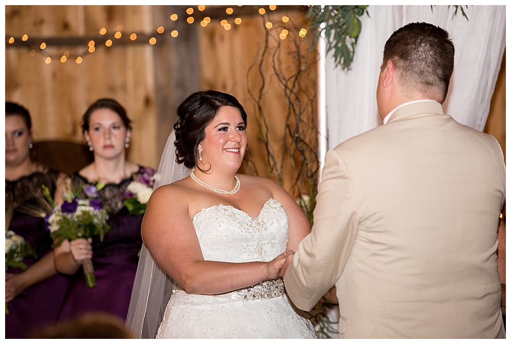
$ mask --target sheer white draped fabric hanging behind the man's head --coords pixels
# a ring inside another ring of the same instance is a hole
[[[464,11],[469,20],[460,10],[453,17],[454,6],[368,7],[351,70],[335,67],[330,54],[325,61],[328,149],[382,124],[376,86],[383,48],[392,32],[415,21],[444,28],[454,42],[454,72],[444,111],[459,123],[484,129],[505,48],[506,8],[469,6]]]

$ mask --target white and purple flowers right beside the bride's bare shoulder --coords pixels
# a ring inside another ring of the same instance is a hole
[[[131,215],[144,215],[155,179],[156,174],[152,168],[142,168],[133,174],[133,181],[124,193],[124,205]]]

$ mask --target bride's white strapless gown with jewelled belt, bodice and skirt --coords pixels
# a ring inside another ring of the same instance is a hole
[[[286,250],[289,223],[270,198],[256,218],[231,207],[202,209],[193,224],[205,260],[270,261]],[[156,338],[316,338],[293,309],[282,278],[222,295],[174,291]]]

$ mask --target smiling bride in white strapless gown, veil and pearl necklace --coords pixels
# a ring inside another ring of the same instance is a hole
[[[280,277],[309,221],[276,182],[237,174],[245,110],[233,96],[205,90],[177,114],[142,223],[127,326],[156,338],[315,338]],[[179,179],[174,154],[189,176]]]

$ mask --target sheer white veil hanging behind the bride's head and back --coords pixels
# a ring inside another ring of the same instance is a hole
[[[175,140],[176,133],[172,130],[161,154],[154,189],[190,175],[190,169],[176,163]],[[142,244],[126,327],[138,338],[154,338],[175,288],[174,280],[153,260],[146,245]]]

